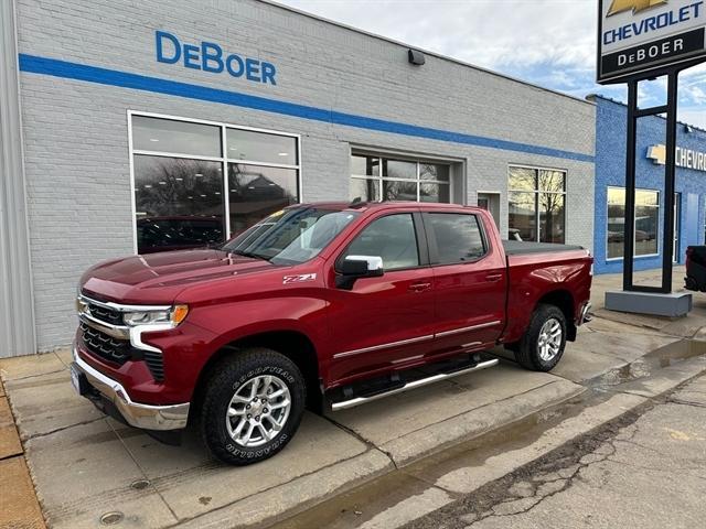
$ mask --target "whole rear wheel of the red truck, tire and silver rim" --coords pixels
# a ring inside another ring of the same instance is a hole
[[[559,363],[566,346],[566,316],[554,305],[541,304],[517,344],[515,358],[525,369],[549,371]]]

